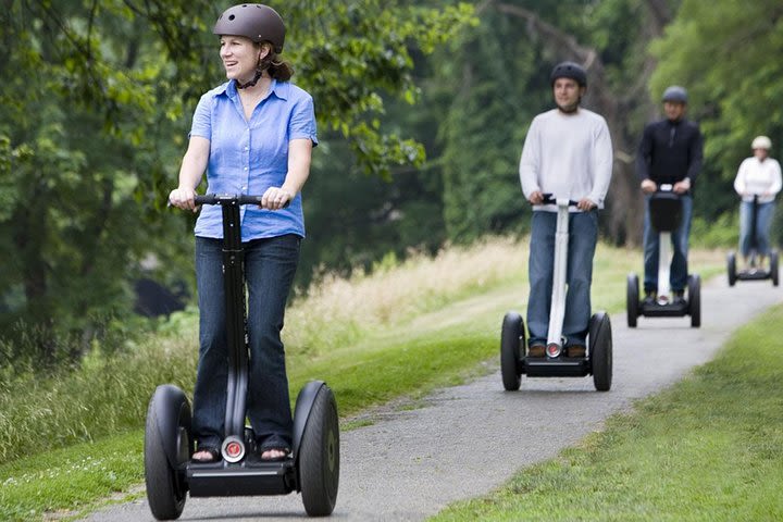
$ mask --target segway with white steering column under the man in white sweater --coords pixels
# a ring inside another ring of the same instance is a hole
[[[557,204],[555,236],[555,271],[551,309],[545,357],[527,357],[525,326],[522,315],[510,311],[504,316],[500,332],[500,374],[504,387],[520,388],[521,375],[529,377],[583,377],[593,375],[598,391],[608,391],[612,378],[612,333],[609,315],[597,312],[589,320],[586,357],[564,357],[562,325],[566,316],[566,291],[569,244],[569,206],[576,201],[555,200],[545,195],[544,203]]]

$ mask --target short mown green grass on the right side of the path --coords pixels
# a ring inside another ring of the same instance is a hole
[[[783,307],[606,430],[432,521],[783,520]]]

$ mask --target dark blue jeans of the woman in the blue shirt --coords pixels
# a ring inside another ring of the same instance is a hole
[[[293,420],[281,330],[300,241],[299,236],[285,235],[243,244],[250,346],[247,412],[257,440],[264,448],[291,445]],[[192,432],[199,446],[204,447],[220,447],[224,435],[228,346],[222,249],[222,239],[196,238],[200,347]]]

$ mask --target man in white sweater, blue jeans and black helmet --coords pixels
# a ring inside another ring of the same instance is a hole
[[[551,306],[557,208],[542,204],[545,194],[579,204],[569,220],[568,293],[563,336],[567,357],[585,357],[591,316],[593,257],[598,239],[596,209],[604,208],[612,172],[609,127],[599,114],[580,107],[587,75],[576,63],[551,72],[557,109],[531,123],[522,149],[520,179],[533,204],[527,299],[529,357],[545,357]]]

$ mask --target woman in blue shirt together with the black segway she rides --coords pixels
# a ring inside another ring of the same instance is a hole
[[[300,190],[318,144],[313,100],[278,58],[285,25],[272,8],[234,5],[212,33],[228,82],[201,97],[169,196],[181,209],[204,204],[196,222],[192,422],[183,391],[159,386],[145,432],[147,497],[153,515],[169,520],[182,513],[187,492],[297,490],[309,514],[325,515],[339,476],[334,395],[323,382],[308,383],[291,417],[281,340],[304,236]],[[204,171],[211,194],[197,196]]]

